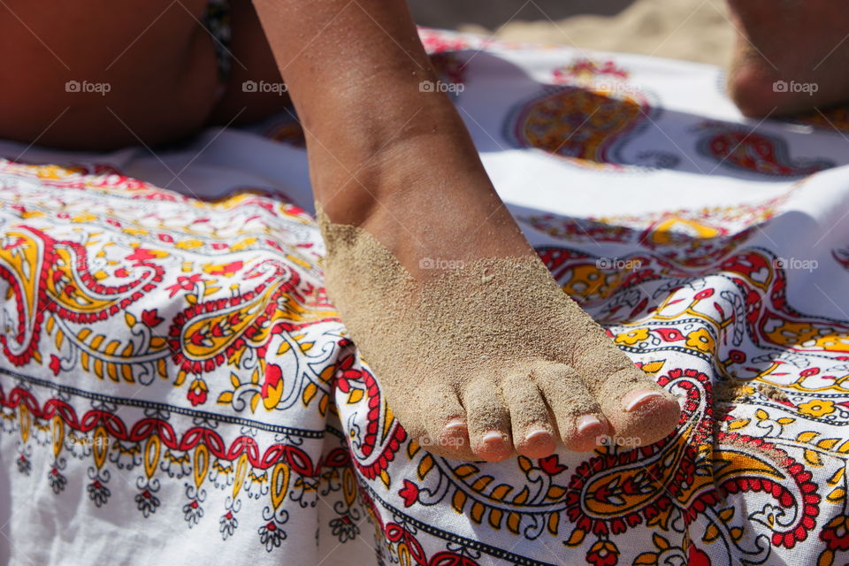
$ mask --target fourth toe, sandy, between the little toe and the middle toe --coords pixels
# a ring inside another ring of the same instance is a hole
[[[471,450],[481,460],[500,462],[514,454],[510,416],[500,387],[488,379],[472,381],[463,394]]]

